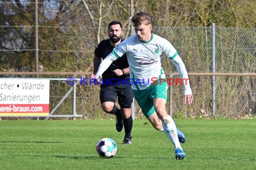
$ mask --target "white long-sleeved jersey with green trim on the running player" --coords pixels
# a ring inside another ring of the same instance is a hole
[[[100,64],[96,78],[99,78],[115,59],[125,53],[129,63],[132,89],[143,90],[153,81],[166,78],[161,66],[162,54],[165,53],[172,60],[183,80],[184,95],[192,94],[185,64],[177,50],[167,39],[156,34],[152,34],[148,42],[141,42],[137,39],[137,35],[133,35],[119,43]]]

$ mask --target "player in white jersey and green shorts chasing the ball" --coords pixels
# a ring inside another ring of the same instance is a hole
[[[163,130],[174,145],[176,159],[184,159],[185,152],[177,136],[176,125],[168,115],[165,104],[167,101],[167,82],[161,66],[161,55],[165,53],[177,68],[184,85],[184,102],[192,104],[194,98],[188,81],[185,64],[172,44],[156,34],[152,34],[152,17],[149,13],[140,12],[132,17],[136,35],[132,35],[119,43],[100,64],[95,78],[100,76],[110,64],[126,53],[130,68],[132,90],[144,115],[156,115],[162,122]],[[160,83],[161,82],[161,83]]]

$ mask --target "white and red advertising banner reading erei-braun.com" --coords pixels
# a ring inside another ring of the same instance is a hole
[[[50,80],[0,79],[0,116],[48,116]]]

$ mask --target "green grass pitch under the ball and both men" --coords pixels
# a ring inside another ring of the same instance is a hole
[[[115,120],[0,121],[2,170],[255,170],[256,120],[176,120],[185,133],[187,157],[176,160],[164,132],[134,120],[132,145]],[[97,155],[98,140],[117,143],[115,157]]]

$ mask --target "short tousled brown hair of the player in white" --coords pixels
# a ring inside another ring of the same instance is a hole
[[[135,14],[132,17],[132,25],[133,26],[141,26],[141,24],[149,25],[152,24],[153,18],[149,13],[140,12]]]

